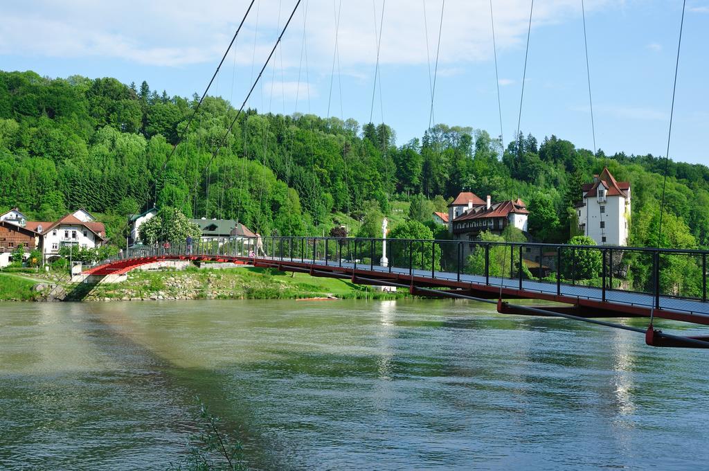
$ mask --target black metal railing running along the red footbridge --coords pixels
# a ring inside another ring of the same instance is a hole
[[[709,251],[479,240],[274,236],[139,246],[122,251],[111,260],[162,255],[267,258],[494,287],[503,285],[657,308],[662,297],[707,300]],[[639,294],[645,296],[638,297]]]

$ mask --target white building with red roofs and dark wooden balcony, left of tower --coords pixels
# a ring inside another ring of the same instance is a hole
[[[527,232],[527,206],[521,199],[492,203],[474,193],[463,192],[448,205],[448,231],[456,239],[474,240],[481,232],[502,233],[507,226]]]

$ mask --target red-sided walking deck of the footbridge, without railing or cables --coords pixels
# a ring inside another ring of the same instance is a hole
[[[457,272],[444,272],[408,267],[381,267],[354,262],[337,262],[325,260],[302,260],[291,257],[247,257],[244,255],[151,255],[123,260],[113,260],[104,265],[99,265],[85,273],[92,275],[111,275],[116,272],[127,272],[133,268],[158,260],[220,260],[241,263],[252,263],[265,267],[277,267],[286,271],[310,272],[313,276],[333,276],[350,278],[360,284],[393,284],[408,286],[417,294],[426,296],[436,295],[435,292],[421,292],[420,288],[442,288],[462,290],[469,297],[484,299],[497,299],[501,292],[502,297],[508,299],[540,299],[556,301],[574,306],[582,306],[587,315],[598,313],[601,316],[627,317],[650,316],[669,318],[677,321],[700,323],[709,325],[709,303],[700,299],[687,299],[661,296],[659,309],[656,299],[652,294],[627,292],[619,289],[601,289],[561,283],[533,281],[529,279],[486,277],[482,275],[469,275]],[[417,290],[419,289],[419,290]],[[604,299],[605,296],[605,299]]]

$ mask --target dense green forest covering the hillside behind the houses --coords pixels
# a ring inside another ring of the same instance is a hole
[[[581,184],[607,165],[632,184],[630,243],[658,243],[662,157],[593,155],[554,135],[520,135],[504,147],[486,131],[443,124],[396,143],[384,124],[256,110],[242,113],[217,149],[236,110],[207,97],[168,160],[197,98],[145,82],[0,72],[0,208],[52,220],[85,207],[114,238],[127,214],[153,203],[264,234],[320,235],[349,217],[365,220],[360,232],[376,228],[367,217],[390,214],[393,201],[423,194],[440,206],[469,189],[522,198],[530,233],[557,242],[574,235],[569,208]],[[663,226],[661,245],[709,245],[708,167],[669,162]]]

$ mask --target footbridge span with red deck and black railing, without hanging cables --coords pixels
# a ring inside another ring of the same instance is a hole
[[[386,253],[388,260],[382,260]],[[643,333],[656,347],[709,348],[709,336],[676,336],[654,318],[709,325],[707,250],[373,238],[265,237],[130,249],[86,270],[100,279],[157,260],[232,261],[425,297],[497,304],[503,314],[559,316]],[[382,263],[384,262],[384,263]],[[634,279],[630,279],[632,274]],[[553,301],[525,306],[503,299]],[[599,320],[647,317],[642,328]]]

